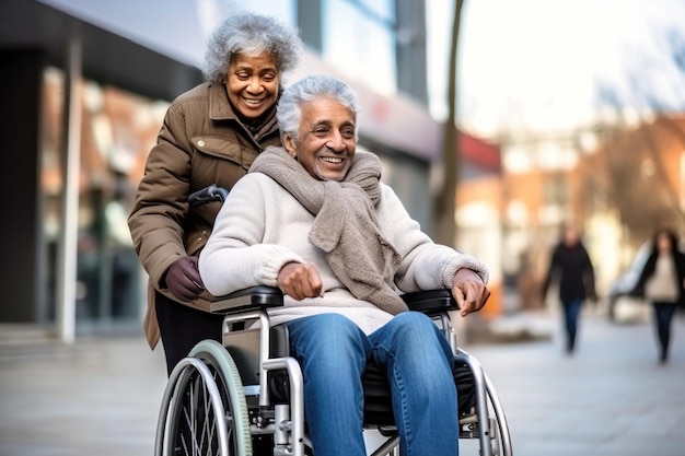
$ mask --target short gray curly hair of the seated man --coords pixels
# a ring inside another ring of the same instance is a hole
[[[302,119],[302,105],[320,96],[335,98],[355,113],[355,120],[359,115],[359,100],[352,87],[337,78],[327,74],[304,77],[286,87],[276,108],[276,118],[281,130],[281,138],[289,135],[298,140],[298,129]],[[359,127],[355,122],[355,140],[358,139]]]

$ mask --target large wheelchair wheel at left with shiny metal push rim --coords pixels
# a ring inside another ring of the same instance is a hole
[[[172,372],[155,455],[252,456],[241,377],[219,342],[201,341]]]

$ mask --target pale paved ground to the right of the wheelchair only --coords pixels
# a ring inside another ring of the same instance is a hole
[[[685,455],[685,321],[671,360],[657,362],[651,324],[584,317],[578,350],[562,351],[556,318],[536,319],[547,342],[473,347],[496,385],[518,456]]]

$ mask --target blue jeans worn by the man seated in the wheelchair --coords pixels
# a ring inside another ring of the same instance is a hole
[[[367,362],[386,366],[403,456],[458,454],[452,350],[426,315],[406,312],[365,336],[322,314],[287,324],[304,377],[304,411],[316,456],[364,456]]]

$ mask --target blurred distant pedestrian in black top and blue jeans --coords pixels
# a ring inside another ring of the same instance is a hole
[[[595,300],[594,268],[590,255],[582,244],[580,231],[572,225],[565,226],[561,241],[555,246],[549,268],[543,282],[543,300],[549,287],[559,288],[559,300],[564,309],[566,352],[576,350],[578,320],[585,299]]]

